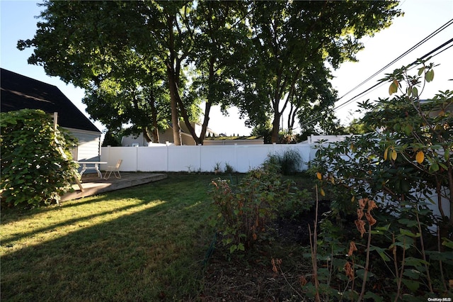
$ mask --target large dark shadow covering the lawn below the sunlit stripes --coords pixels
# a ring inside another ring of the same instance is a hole
[[[1,301],[188,301],[196,297],[201,262],[211,239],[206,235],[211,234],[206,227],[210,212],[206,199],[182,200],[157,206],[139,201],[98,213],[93,217],[137,210],[2,257]]]

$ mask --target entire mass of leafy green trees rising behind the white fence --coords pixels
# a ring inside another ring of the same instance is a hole
[[[285,108],[291,130],[306,108],[333,105],[328,65],[355,60],[359,39],[389,26],[397,4],[45,1],[34,38],[18,48],[33,47],[30,64],[86,89],[88,113],[109,129],[129,124],[156,141],[171,125],[178,145],[183,121],[200,144],[212,105],[237,106],[248,125],[272,119],[275,142]]]

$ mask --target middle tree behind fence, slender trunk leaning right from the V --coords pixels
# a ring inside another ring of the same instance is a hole
[[[251,43],[245,20],[248,6],[234,1],[201,1],[194,23],[194,51],[189,62],[195,67],[188,97],[204,102],[199,142],[204,140],[213,105],[226,113],[238,97],[236,78],[248,60]]]

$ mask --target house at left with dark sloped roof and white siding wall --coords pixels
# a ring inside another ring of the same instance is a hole
[[[71,132],[79,145],[71,150],[74,160],[99,161],[101,131],[81,113],[57,86],[1,68],[1,112],[41,109],[58,113],[58,125]]]

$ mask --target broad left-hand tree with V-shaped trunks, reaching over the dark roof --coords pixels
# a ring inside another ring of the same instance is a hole
[[[43,65],[47,74],[87,89],[85,101],[93,117],[108,120],[105,114],[110,111],[103,108],[108,103],[144,134],[144,116],[154,125],[159,121],[150,112],[137,112],[155,108],[137,106],[137,96],[145,87],[155,96],[156,83],[164,77],[174,142],[180,144],[182,118],[195,142],[202,143],[210,107],[235,91],[231,72],[226,71],[234,62],[231,57],[238,57],[237,49],[241,50],[235,46],[245,32],[241,14],[246,5],[196,1],[46,1],[43,5],[45,22],[38,23],[32,40],[19,42],[21,49],[35,47],[31,64]],[[164,74],[156,72],[162,69]],[[195,133],[191,122],[197,120],[201,101],[205,116],[201,133]],[[122,120],[118,116],[115,124]]]

